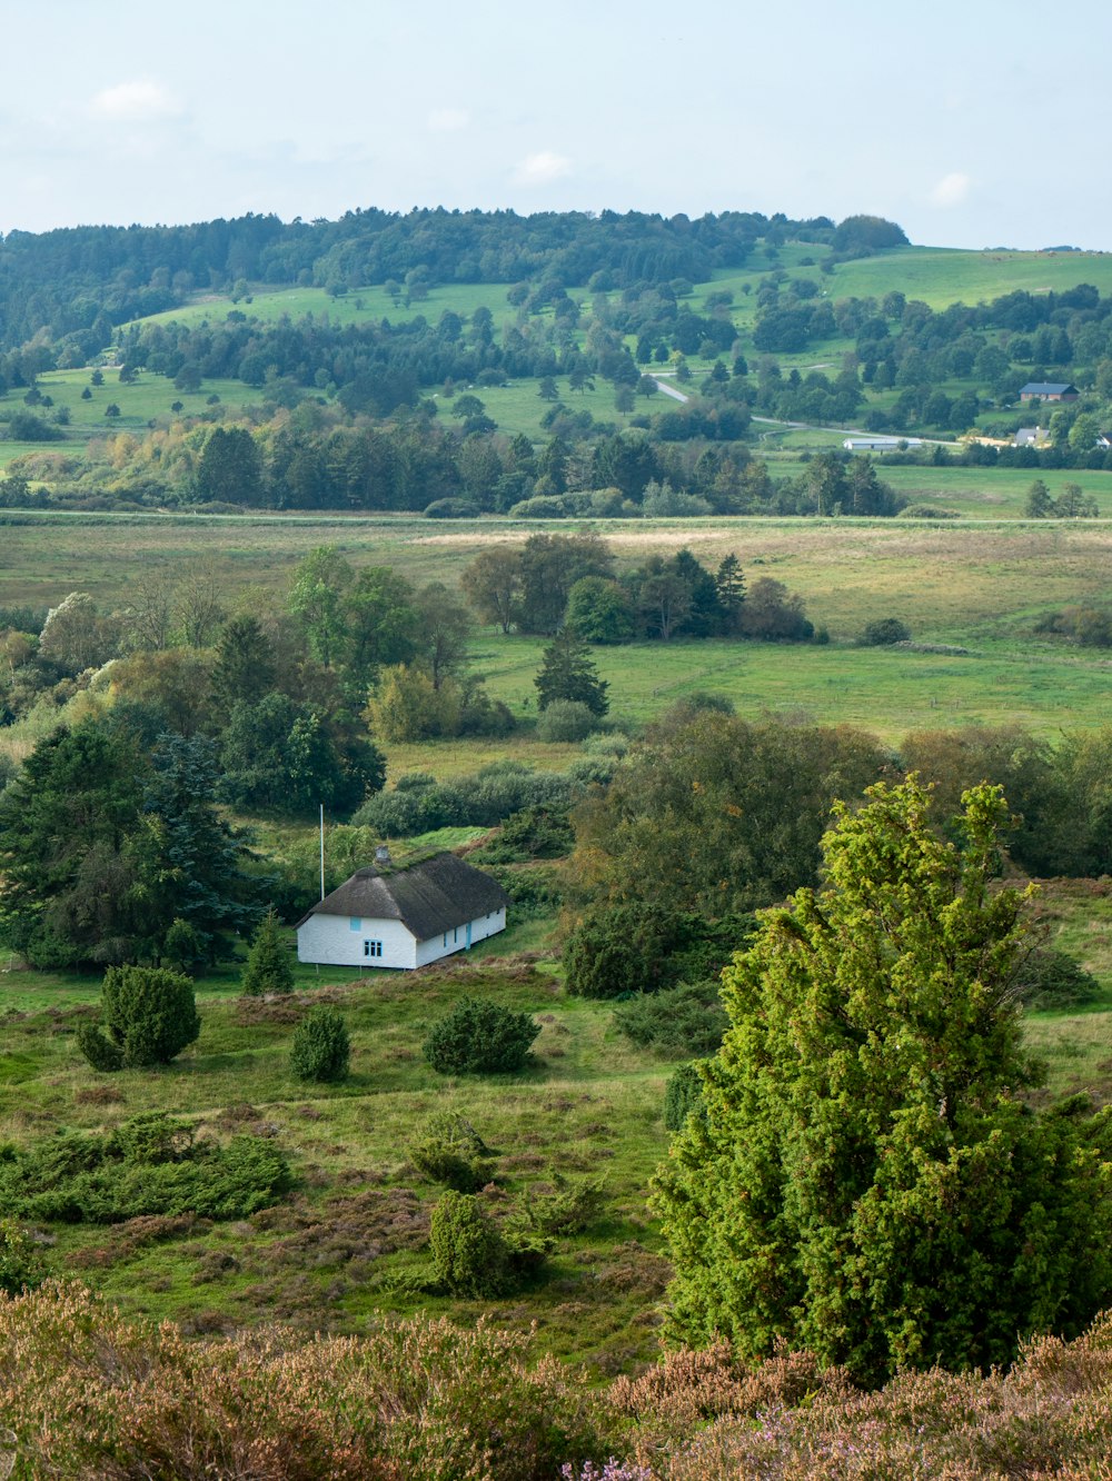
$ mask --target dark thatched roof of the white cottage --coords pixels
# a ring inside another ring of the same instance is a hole
[[[314,905],[298,926],[304,926],[309,915],[392,920],[401,921],[418,940],[429,940],[508,903],[509,896],[498,880],[455,853],[438,853],[409,866],[357,869],[320,905]]]

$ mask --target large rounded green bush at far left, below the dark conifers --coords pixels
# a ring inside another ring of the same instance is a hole
[[[102,1028],[81,1025],[77,1047],[101,1071],[167,1065],[201,1031],[192,982],[164,967],[110,967]]]

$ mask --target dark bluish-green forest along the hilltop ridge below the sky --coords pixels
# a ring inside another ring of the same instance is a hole
[[[791,221],[724,212],[691,221],[641,212],[352,210],[339,221],[247,215],[188,227],[74,227],[0,240],[0,348],[44,335],[83,363],[115,324],[175,308],[185,295],[238,281],[348,292],[398,281],[515,283],[622,289],[702,281],[743,267],[758,240],[813,241],[837,255],[906,243],[893,222],[851,216]]]

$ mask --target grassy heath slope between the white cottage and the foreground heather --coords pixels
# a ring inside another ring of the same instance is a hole
[[[1082,939],[1106,1001],[1084,1014],[1039,1014],[1032,1043],[1050,1062],[1050,1093],[1112,1094],[1105,1026],[1112,1003],[1112,906],[1088,887],[1053,886],[1045,899],[1057,940]],[[502,948],[523,942],[517,927]],[[375,1309],[447,1311],[499,1325],[539,1324],[558,1354],[613,1373],[654,1355],[666,1266],[644,1206],[666,1151],[660,1121],[671,1062],[631,1049],[606,1004],[569,1000],[558,976],[505,949],[456,960],[419,976],[298,969],[299,994],[341,1004],[354,1044],[352,1077],[307,1087],[286,1066],[292,1019],[304,998],[275,1007],[235,998],[235,974],[200,986],[198,1043],[163,1071],[93,1077],[73,1031],[92,1010],[90,979],[19,973],[6,989],[0,1053],[0,1137],[24,1140],[58,1126],[111,1127],[151,1106],[207,1134],[275,1136],[293,1154],[299,1191],[278,1210],[243,1223],[197,1225],[142,1243],[144,1228],[53,1231],[53,1260],[132,1311],[172,1315],[191,1330],[274,1320],[358,1330]],[[481,994],[542,1022],[536,1068],[506,1080],[443,1080],[422,1060],[429,1022],[462,994]],[[90,1086],[93,1087],[90,1093]],[[499,1154],[503,1192],[517,1197],[549,1167],[600,1176],[598,1225],[561,1243],[542,1280],[495,1303],[406,1294],[392,1286],[421,1259],[438,1191],[406,1160],[406,1142],[432,1111],[462,1112]],[[150,1231],[147,1231],[150,1232]]]

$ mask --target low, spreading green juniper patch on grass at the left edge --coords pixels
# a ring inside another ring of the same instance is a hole
[[[164,1112],[114,1133],[64,1131],[0,1157],[0,1213],[61,1223],[120,1223],[144,1214],[246,1219],[293,1185],[272,1142],[195,1140]]]

